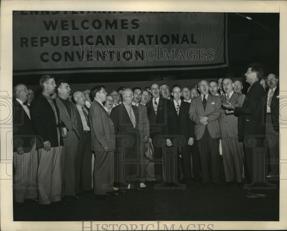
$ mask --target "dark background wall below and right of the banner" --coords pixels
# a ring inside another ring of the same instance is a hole
[[[240,15],[239,15],[240,14]],[[279,76],[279,13],[228,13],[228,67],[193,71],[146,71],[119,73],[74,73],[54,75],[65,78],[72,91],[91,89],[105,85],[107,91],[125,87],[146,87],[151,83],[167,83],[169,87],[179,84],[192,87],[201,79],[232,77],[245,82],[244,74],[250,62],[260,62],[265,67],[265,76]],[[243,17],[245,16],[245,17]],[[246,17],[252,18],[252,20]],[[13,76],[13,85],[24,83],[40,92],[40,75]],[[245,83],[245,89],[248,84]]]

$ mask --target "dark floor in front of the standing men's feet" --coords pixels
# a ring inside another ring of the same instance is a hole
[[[25,201],[24,207],[14,206],[14,221],[278,221],[279,181],[276,189],[268,189],[267,197],[245,197],[243,186],[222,186],[131,191],[110,196],[107,201],[84,193],[82,199],[68,198],[67,205],[54,210],[42,210],[35,201]]]

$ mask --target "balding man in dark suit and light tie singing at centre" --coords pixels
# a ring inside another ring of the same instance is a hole
[[[160,88],[154,83],[150,87],[152,99],[146,103],[148,120],[150,124],[150,138],[154,146],[154,158],[157,163],[154,164],[155,179],[159,185],[163,184],[163,167],[162,167],[162,148],[166,142],[161,142],[160,138],[166,140],[168,136],[168,116],[167,108],[170,100],[160,98]],[[159,163],[160,162],[160,163]]]

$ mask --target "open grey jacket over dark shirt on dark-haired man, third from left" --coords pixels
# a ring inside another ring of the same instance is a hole
[[[71,119],[70,119],[67,108],[62,103],[61,99],[57,97],[55,100],[60,111],[60,118],[64,122],[66,127],[69,129],[68,136],[63,139],[64,147],[69,147],[72,145],[72,142],[73,142],[73,131],[75,131],[77,137],[80,138],[80,134],[79,134],[78,127],[77,127],[77,116],[76,116],[77,108],[75,104],[68,101],[71,106]]]

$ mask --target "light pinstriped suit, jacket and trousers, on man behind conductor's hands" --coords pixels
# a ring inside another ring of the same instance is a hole
[[[220,96],[221,102],[226,103],[226,94]],[[234,107],[242,107],[245,95],[233,91],[229,102]],[[238,139],[238,117],[226,114],[222,109],[219,119],[222,142],[222,158],[226,182],[243,181],[243,142]]]

